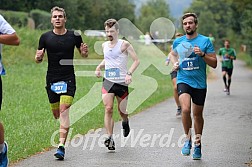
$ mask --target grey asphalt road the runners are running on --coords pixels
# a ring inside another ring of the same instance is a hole
[[[218,68],[208,81],[204,110],[202,159],[180,154],[183,140],[181,119],[176,118],[173,98],[130,118],[131,133],[121,134],[115,124],[116,151],[103,146],[104,129],[73,140],[64,161],[54,159],[54,150],[34,155],[15,167],[246,167],[252,163],[252,71],[235,62],[231,95],[223,92]],[[251,164],[252,166],[252,164]]]

